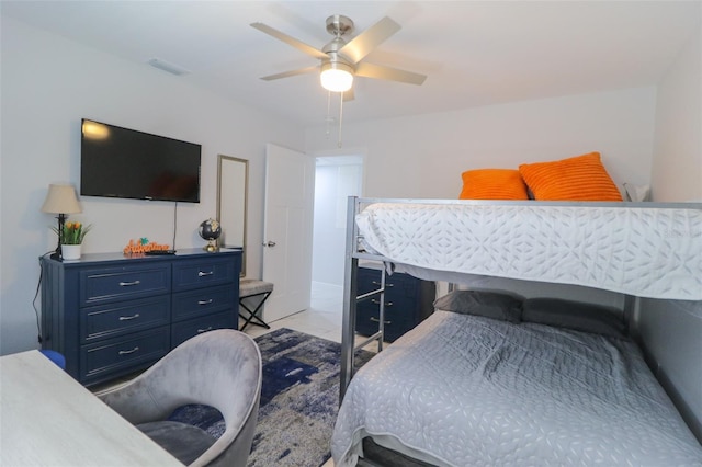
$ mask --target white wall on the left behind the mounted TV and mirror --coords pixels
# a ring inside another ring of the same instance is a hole
[[[265,143],[302,149],[303,128],[223,100],[161,70],[122,60],[2,18],[2,296],[0,353],[37,346],[32,299],[37,258],[56,247],[39,212],[49,183],[80,178],[80,119],[202,144],[200,204],[178,206],[177,249],[202,247],[197,225],[216,215],[217,155],[250,160],[250,244],[262,236]],[[93,225],[86,252],[121,251],[129,239],[171,243],[173,203],[83,197],[71,216]],[[258,276],[260,248],[248,251]]]

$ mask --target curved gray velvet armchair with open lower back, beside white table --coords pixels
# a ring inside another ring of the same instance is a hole
[[[223,329],[183,342],[134,380],[100,398],[184,464],[244,467],[260,395],[258,345],[242,332]],[[165,421],[189,403],[222,412],[226,429],[218,440],[194,426]]]

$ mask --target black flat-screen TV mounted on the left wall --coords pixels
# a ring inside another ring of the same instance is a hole
[[[202,146],[83,118],[80,194],[200,203]]]

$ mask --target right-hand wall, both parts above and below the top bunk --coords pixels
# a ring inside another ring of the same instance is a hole
[[[702,27],[658,89],[653,200],[702,202]],[[636,328],[664,386],[702,442],[702,301],[642,299]]]

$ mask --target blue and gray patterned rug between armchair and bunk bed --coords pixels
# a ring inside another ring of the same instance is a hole
[[[291,329],[256,339],[263,360],[261,408],[249,467],[320,466],[331,457],[329,442],[339,409],[341,345]],[[356,353],[356,366],[372,352]],[[214,436],[224,432],[215,409],[186,406],[171,420],[191,423]]]

